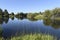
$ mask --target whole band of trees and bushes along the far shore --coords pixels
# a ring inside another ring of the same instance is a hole
[[[29,18],[29,19],[42,19],[42,18],[54,18],[54,17],[60,17],[60,8],[54,8],[52,10],[45,10],[44,12],[38,12],[38,13],[17,13],[14,14],[14,12],[9,13],[7,9],[4,11],[0,8],[0,18],[2,17],[16,17],[16,18]]]

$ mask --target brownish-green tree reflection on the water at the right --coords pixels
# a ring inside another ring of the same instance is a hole
[[[55,29],[60,28],[60,21],[59,20],[51,20],[51,19],[45,19],[43,23],[47,26],[52,26]]]

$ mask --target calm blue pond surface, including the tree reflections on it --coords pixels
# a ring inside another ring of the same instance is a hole
[[[0,19],[0,37],[7,38],[19,36],[21,34],[43,33],[60,38],[60,21],[56,20],[37,20],[29,19]]]

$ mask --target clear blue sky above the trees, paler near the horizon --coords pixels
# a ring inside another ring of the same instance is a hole
[[[40,12],[60,7],[60,0],[0,0],[0,8],[9,12]]]

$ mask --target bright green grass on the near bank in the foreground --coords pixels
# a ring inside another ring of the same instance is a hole
[[[43,34],[30,34],[30,35],[23,35],[19,37],[13,37],[11,40],[56,40],[51,35],[43,35]]]

